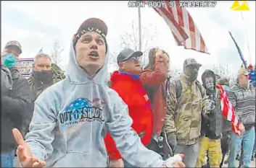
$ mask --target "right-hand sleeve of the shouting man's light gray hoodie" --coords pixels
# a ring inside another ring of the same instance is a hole
[[[136,167],[162,167],[162,157],[154,151],[146,149],[141,143],[136,131],[133,131],[131,117],[128,115],[128,107],[115,92],[115,104],[112,105],[110,122],[107,128],[115,141],[120,154],[130,164]]]

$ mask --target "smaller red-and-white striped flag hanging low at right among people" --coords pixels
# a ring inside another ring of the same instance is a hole
[[[241,131],[239,130],[239,122],[236,118],[235,109],[231,102],[228,100],[228,94],[222,86],[216,84],[216,87],[220,90],[220,105],[222,114],[226,120],[231,121],[232,130],[234,133],[236,133],[237,136],[240,136]]]

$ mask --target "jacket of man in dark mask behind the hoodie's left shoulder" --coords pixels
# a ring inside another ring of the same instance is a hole
[[[58,81],[61,81],[62,77],[54,73],[54,76],[52,77],[52,82],[49,82],[48,84],[44,84],[42,81],[36,81],[36,79],[31,74],[28,79],[28,84],[30,85],[30,89],[32,91],[32,100],[35,102],[36,98],[43,92],[47,87],[50,87],[52,84],[57,83]]]

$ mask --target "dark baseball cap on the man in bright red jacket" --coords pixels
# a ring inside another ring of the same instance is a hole
[[[117,56],[117,63],[122,63],[132,57],[140,57],[143,53],[141,51],[134,51],[131,48],[125,48]]]

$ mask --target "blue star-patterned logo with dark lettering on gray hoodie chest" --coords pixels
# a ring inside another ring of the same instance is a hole
[[[83,122],[104,122],[102,112],[102,101],[94,99],[93,102],[79,98],[70,103],[65,108],[65,112],[59,114],[59,122],[61,128],[64,129],[67,125],[74,125]]]

